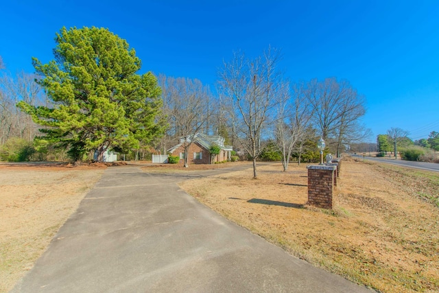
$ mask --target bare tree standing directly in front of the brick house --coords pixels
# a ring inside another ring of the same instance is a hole
[[[188,150],[197,132],[208,131],[212,114],[211,92],[200,80],[171,78],[160,75],[158,83],[163,91],[163,112],[167,115],[168,137],[181,139],[185,149],[185,167]]]

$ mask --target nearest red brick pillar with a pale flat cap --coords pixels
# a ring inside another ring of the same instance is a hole
[[[307,169],[308,204],[323,209],[332,209],[337,166],[309,165]]]

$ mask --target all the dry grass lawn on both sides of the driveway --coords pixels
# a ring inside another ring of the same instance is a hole
[[[335,208],[307,206],[306,165],[281,163],[180,186],[287,252],[381,292],[439,292],[439,174],[346,159]],[[145,172],[227,167],[176,165]],[[11,290],[99,180],[102,167],[0,166],[0,292]]]

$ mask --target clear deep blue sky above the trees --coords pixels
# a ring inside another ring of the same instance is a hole
[[[233,51],[282,50],[292,81],[346,79],[366,96],[374,134],[439,131],[439,1],[5,1],[0,56],[12,73],[53,59],[62,26],[107,27],[128,41],[142,72],[212,87]]]

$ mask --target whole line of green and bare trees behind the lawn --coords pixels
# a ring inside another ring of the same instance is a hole
[[[293,156],[314,160],[320,137],[325,152],[340,156],[370,135],[360,123],[365,99],[348,81],[289,82],[271,47],[257,58],[238,52],[224,62],[215,93],[200,80],[137,74],[134,49],[106,29],[64,27],[54,53],[45,65],[33,59],[36,75],[12,78],[2,70],[3,160],[100,161],[106,150],[144,159],[203,132],[222,135],[253,161],[276,150],[287,169]],[[5,155],[18,145],[11,139],[34,140],[30,155]]]

